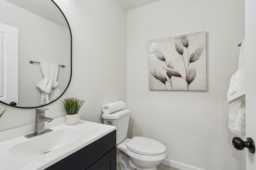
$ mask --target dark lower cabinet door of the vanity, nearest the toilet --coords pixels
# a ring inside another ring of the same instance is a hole
[[[86,170],[116,170],[116,148],[102,156]]]

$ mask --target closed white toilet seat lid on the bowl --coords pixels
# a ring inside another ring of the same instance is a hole
[[[126,147],[131,152],[142,155],[161,155],[166,151],[165,146],[151,138],[135,136],[126,143]]]

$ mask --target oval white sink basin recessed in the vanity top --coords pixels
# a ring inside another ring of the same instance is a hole
[[[85,134],[84,131],[79,129],[65,128],[16,144],[9,149],[9,152],[20,157],[39,156],[79,140]]]

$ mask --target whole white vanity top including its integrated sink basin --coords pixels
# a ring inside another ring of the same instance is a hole
[[[114,126],[82,120],[70,126],[64,123],[65,118],[62,119],[63,124],[47,127],[52,132],[30,139],[22,134],[20,137],[0,142],[0,170],[43,170],[116,129]],[[34,125],[29,126],[30,129],[34,128]],[[0,132],[0,138],[6,138],[6,134],[12,136],[27,128]],[[31,131],[26,134],[29,133]]]

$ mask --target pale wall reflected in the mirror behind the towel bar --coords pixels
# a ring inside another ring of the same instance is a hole
[[[40,65],[30,60],[66,65],[57,77],[62,93],[70,79],[69,30],[5,0],[0,0],[0,16],[0,23],[18,28],[18,106],[40,105],[42,92],[36,84],[44,77]]]

